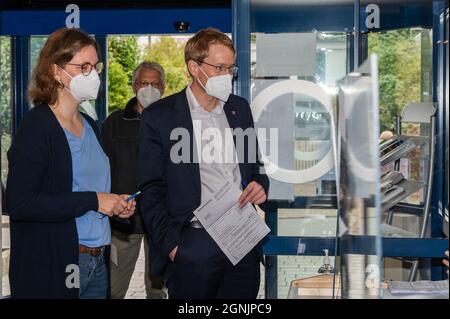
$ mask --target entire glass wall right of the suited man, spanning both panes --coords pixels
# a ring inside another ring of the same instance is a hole
[[[272,210],[267,212],[268,223],[276,236],[334,236],[336,183],[333,158],[328,156],[332,149],[330,132],[331,115],[336,108],[336,81],[372,53],[378,54],[379,126],[381,131],[395,134],[396,116],[401,115],[406,104],[432,101],[432,3],[422,0],[250,3],[252,111],[258,128],[277,129],[277,135],[266,134],[259,139],[262,153],[267,155],[266,167],[277,169],[268,172],[272,204]],[[355,29],[360,30],[356,37]],[[318,96],[326,96],[333,103]],[[402,134],[423,141],[430,134],[430,126],[402,125]],[[271,150],[270,142],[274,139],[278,149]],[[405,187],[412,181],[417,188],[411,188],[411,192],[408,189],[397,199],[423,208],[429,144],[415,145],[393,165],[407,180]],[[382,168],[382,172],[386,170],[389,168]],[[423,216],[404,212],[396,212],[394,216],[392,224],[399,230],[382,228],[386,237],[414,233],[419,236]],[[387,214],[383,217],[386,222]],[[277,294],[269,293],[269,297],[285,298],[292,279],[317,274],[322,257],[301,255],[299,248],[297,256],[269,256],[270,266],[266,267],[271,272],[269,282],[277,278],[276,289],[271,288]],[[399,272],[380,270],[379,274],[405,280],[402,263],[409,261],[400,262]]]

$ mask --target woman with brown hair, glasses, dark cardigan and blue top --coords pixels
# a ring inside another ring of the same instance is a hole
[[[79,112],[97,98],[95,41],[60,29],[40,52],[29,90],[35,107],[8,151],[12,298],[106,298],[106,216],[128,218],[129,195],[110,194],[110,167],[95,122]]]

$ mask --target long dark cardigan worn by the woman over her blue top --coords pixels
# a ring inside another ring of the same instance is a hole
[[[102,145],[96,123],[83,116]],[[70,147],[47,104],[24,116],[8,160],[11,297],[78,298],[78,288],[66,286],[75,274],[69,265],[78,265],[75,218],[97,210],[98,200],[95,192],[72,192]]]

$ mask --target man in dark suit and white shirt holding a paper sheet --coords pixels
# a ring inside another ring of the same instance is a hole
[[[243,186],[241,207],[267,200],[249,104],[231,94],[233,44],[218,30],[201,30],[187,42],[185,61],[192,83],[154,103],[141,119],[138,187],[155,256],[152,272],[167,271],[169,298],[256,298],[261,244],[233,266],[193,214],[224,181]],[[233,133],[234,144],[217,143],[230,129],[250,133]]]

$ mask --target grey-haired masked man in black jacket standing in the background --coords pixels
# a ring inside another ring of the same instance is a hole
[[[111,164],[111,189],[136,193],[136,160],[141,113],[164,94],[164,69],[156,62],[144,61],[133,73],[136,94],[123,110],[110,114],[102,126],[102,135]],[[138,198],[137,198],[138,199]],[[136,261],[144,240],[145,288],[147,299],[166,297],[164,278],[151,276],[148,237],[139,209],[126,221],[111,219],[111,298],[123,299],[128,290]],[[117,256],[117,257],[116,257]]]

